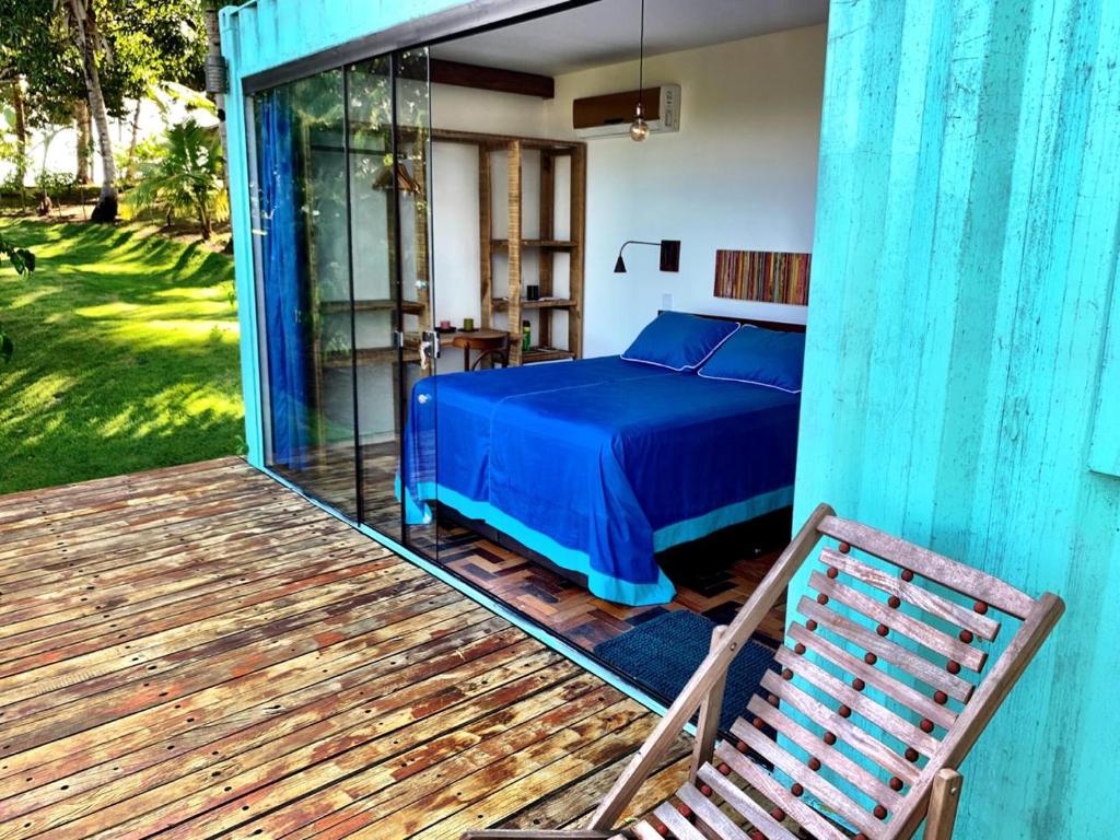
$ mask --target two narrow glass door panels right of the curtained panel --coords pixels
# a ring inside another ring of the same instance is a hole
[[[353,65],[347,91],[362,521],[435,556],[433,510],[417,504],[410,472],[418,442],[433,464],[435,428],[418,428],[409,408],[437,364],[427,50]],[[426,389],[418,404],[432,417],[433,379]]]

